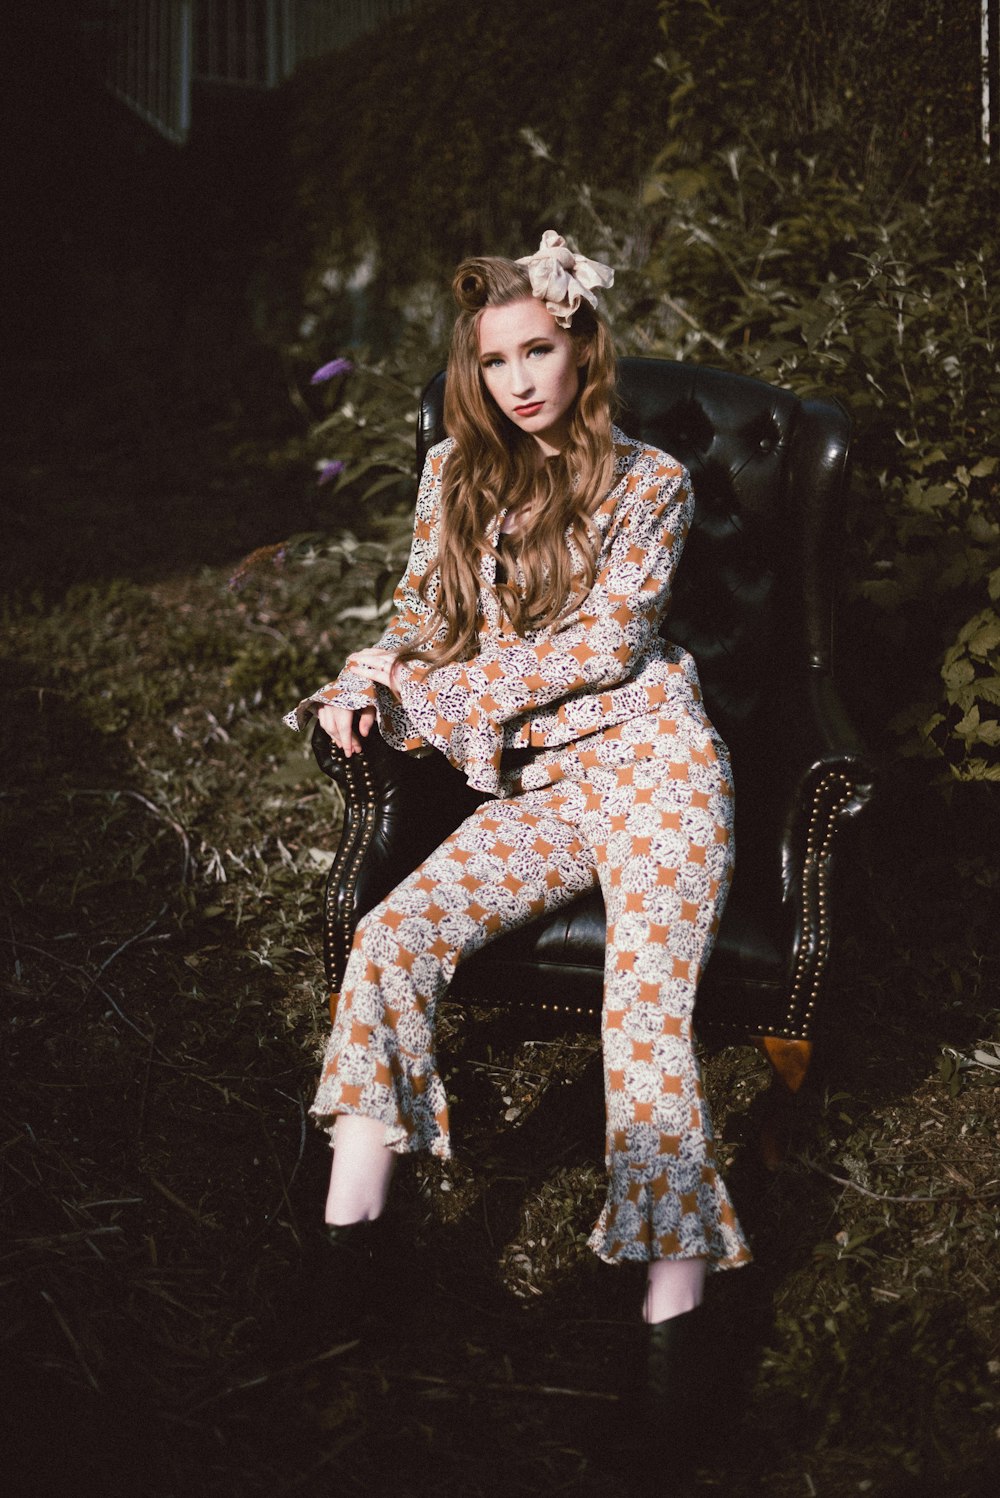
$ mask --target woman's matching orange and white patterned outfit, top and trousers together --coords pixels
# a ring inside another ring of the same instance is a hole
[[[431,448],[410,560],[382,649],[412,643],[436,596],[442,475]],[[359,924],[313,1113],[361,1113],[397,1150],[451,1150],[434,1010],[463,956],[600,884],[608,911],[603,1053],[609,1261],[744,1263],[714,1164],[692,1010],[732,876],[732,780],[690,655],[660,625],[693,512],[686,470],[614,431],[615,478],[593,523],[594,584],[555,625],[516,635],[496,592],[501,511],[479,559],[479,653],[403,668],[400,701],[346,670],[323,703],[379,710],[395,749],[430,745],[484,804]],[[427,595],[421,581],[430,574]],[[509,768],[504,749],[537,750]]]

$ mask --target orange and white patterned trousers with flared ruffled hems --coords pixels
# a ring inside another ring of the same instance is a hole
[[[448,1158],[434,1011],[463,957],[600,885],[608,1195],[600,1258],[750,1258],[692,1046],[732,878],[729,759],[707,719],[651,713],[540,749],[359,923],[311,1113]]]

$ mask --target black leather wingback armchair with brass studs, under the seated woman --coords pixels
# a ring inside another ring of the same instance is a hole
[[[421,464],[443,436],[443,388],[439,374],[422,397]],[[850,422],[835,403],[666,360],[623,360],[620,395],[620,425],[692,473],[696,514],[666,631],[698,661],[737,780],[737,873],[695,1025],[710,1043],[756,1041],[795,1091],[829,960],[838,834],[873,792],[831,676]],[[326,887],[337,990],[358,918],[481,797],[440,753],[397,753],[374,730],[350,759],[319,725],[313,748],[346,801]],[[597,1014],[603,951],[593,893],[461,963],[452,996]]]

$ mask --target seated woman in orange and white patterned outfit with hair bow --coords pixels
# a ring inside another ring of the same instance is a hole
[[[548,231],[458,267],[445,427],[382,640],[289,715],[344,755],[379,718],[482,804],[356,932],[313,1113],[334,1135],[331,1242],[374,1254],[397,1153],[449,1155],[434,1008],[469,953],[600,885],[608,1198],[590,1237],[648,1264],[653,1363],[708,1267],[750,1257],[714,1147],[692,1010],[732,876],[732,782],[692,658],[659,628],[686,470],[612,425],[608,267]],[[656,1372],[653,1378],[656,1381]]]

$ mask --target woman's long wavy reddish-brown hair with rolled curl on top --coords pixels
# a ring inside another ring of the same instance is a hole
[[[578,352],[579,394],[561,452],[539,466],[533,436],[503,415],[479,366],[479,319],[531,295],[522,265],[497,256],[463,261],[452,291],[458,318],[445,383],[445,430],[455,439],[442,482],[437,557],[421,583],[431,617],[404,658],[430,665],[475,655],[481,623],[479,563],[491,550],[490,529],[506,506],[525,509],[518,532],[521,581],[497,584],[497,596],[519,635],[557,622],[590,592],[599,536],[593,514],[611,488],[615,355],[603,318],[585,301],[569,334]]]

